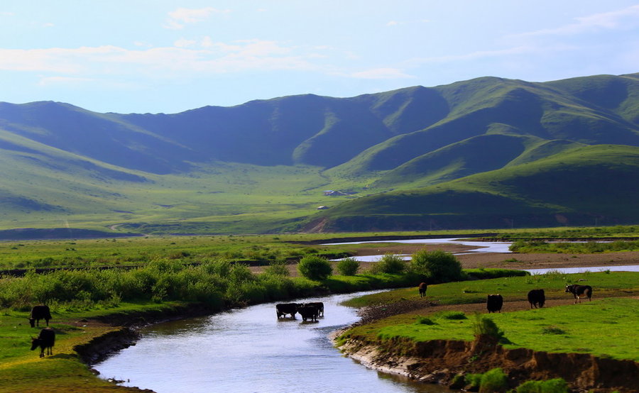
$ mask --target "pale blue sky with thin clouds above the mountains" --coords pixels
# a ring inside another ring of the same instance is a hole
[[[0,101],[177,113],[639,72],[639,1],[0,0]]]

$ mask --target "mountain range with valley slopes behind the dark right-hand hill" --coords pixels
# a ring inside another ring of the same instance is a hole
[[[639,146],[639,74],[481,77],[178,114],[0,103],[0,204],[6,228],[71,218],[101,229],[102,221],[177,220],[172,228],[246,231],[256,220],[271,231],[298,225],[319,204],[339,211],[333,207],[363,195],[449,184],[597,145]],[[331,199],[326,189],[346,192]]]

